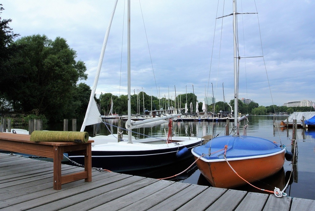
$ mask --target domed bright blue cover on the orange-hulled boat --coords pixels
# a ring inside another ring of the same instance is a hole
[[[225,145],[227,145],[226,158],[227,159],[245,159],[252,156],[263,156],[274,153],[279,153],[284,150],[279,144],[273,143],[264,138],[251,136],[221,136],[213,138],[207,144],[194,147],[192,152],[201,156],[206,160],[221,160],[225,152]],[[211,155],[209,154],[209,147],[211,146]],[[223,150],[221,150],[223,149]],[[219,151],[220,150],[220,151]]]

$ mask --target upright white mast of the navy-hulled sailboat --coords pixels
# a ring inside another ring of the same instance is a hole
[[[130,0],[128,0],[128,143],[131,142],[131,102],[130,102]]]

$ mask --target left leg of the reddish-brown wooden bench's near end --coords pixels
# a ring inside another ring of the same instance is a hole
[[[62,147],[54,146],[54,190],[61,190]]]

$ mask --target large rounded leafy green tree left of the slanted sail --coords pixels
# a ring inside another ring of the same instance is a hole
[[[26,36],[15,45],[21,50],[12,72],[21,78],[6,90],[10,99],[20,102],[25,112],[38,109],[51,120],[66,118],[77,102],[77,81],[87,79],[84,62],[75,61],[76,51],[60,37],[52,41],[45,35]]]

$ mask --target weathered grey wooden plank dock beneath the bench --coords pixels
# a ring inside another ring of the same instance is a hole
[[[62,174],[82,171],[62,164]],[[315,210],[315,200],[92,171],[53,189],[53,163],[0,153],[0,210]]]

